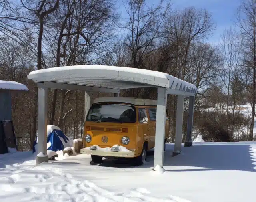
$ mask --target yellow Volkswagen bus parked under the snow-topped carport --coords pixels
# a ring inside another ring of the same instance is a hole
[[[166,117],[165,143],[169,135]],[[154,148],[156,100],[131,97],[101,97],[94,100],[84,125],[82,154],[101,163],[105,156],[146,160],[146,151]],[[164,147],[165,149],[165,147]]]

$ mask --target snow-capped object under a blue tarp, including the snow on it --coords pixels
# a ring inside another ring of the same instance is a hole
[[[66,135],[60,130],[59,127],[48,125],[47,126],[47,150],[58,151],[63,150],[65,147],[72,147],[72,141],[66,137]],[[36,138],[33,145],[33,153],[36,152],[36,144],[38,138]]]

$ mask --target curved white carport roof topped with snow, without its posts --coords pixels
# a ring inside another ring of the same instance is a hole
[[[54,67],[30,72],[34,82],[57,82],[108,89],[138,87],[166,87],[178,91],[197,93],[197,88],[167,73],[130,67],[104,65],[76,65]]]

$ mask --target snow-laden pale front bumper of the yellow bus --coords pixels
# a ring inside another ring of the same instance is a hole
[[[122,152],[122,151],[102,151],[102,150],[90,150],[90,148],[82,148],[80,149],[81,154],[89,154],[95,156],[111,156],[111,157],[126,157],[126,158],[134,158],[135,152]]]

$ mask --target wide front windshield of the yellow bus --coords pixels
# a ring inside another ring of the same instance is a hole
[[[86,121],[135,123],[136,109],[132,105],[118,103],[94,104],[88,112]]]

